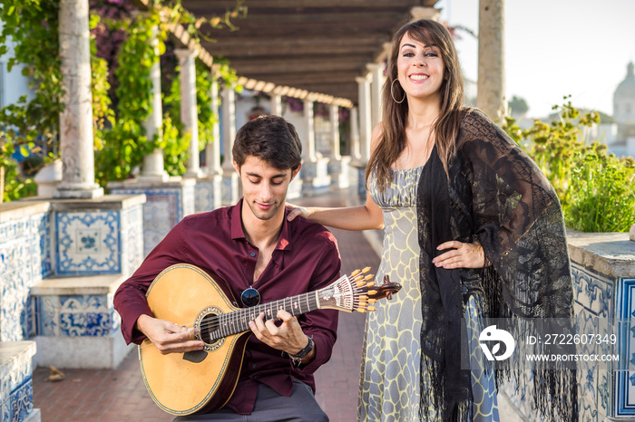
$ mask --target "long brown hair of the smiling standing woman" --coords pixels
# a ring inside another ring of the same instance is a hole
[[[366,185],[368,177],[375,170],[377,186],[382,191],[391,182],[390,167],[405,149],[408,101],[397,103],[393,100],[390,91],[393,81],[397,79],[396,62],[399,55],[399,44],[405,34],[424,45],[438,47],[445,63],[444,82],[439,88],[441,91],[440,112],[433,124],[432,133],[435,134],[436,152],[441,158],[446,172],[448,162],[455,153],[455,142],[461,123],[461,109],[464,102],[463,74],[452,35],[444,25],[435,21],[424,19],[405,24],[393,37],[386,82],[384,83],[382,133],[366,166]],[[398,81],[395,83],[394,91],[397,99],[400,99],[401,95],[405,96]]]

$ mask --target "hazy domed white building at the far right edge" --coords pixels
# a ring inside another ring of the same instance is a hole
[[[613,118],[617,129],[613,142],[607,142],[617,156],[635,157],[635,73],[633,62],[626,66],[626,78],[613,93]]]

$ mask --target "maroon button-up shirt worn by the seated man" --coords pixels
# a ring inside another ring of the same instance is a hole
[[[242,200],[236,206],[186,216],[148,254],[132,277],[122,283],[114,295],[114,307],[122,316],[126,342],[139,344],[145,338],[135,329],[143,313],[152,315],[145,293],[156,276],[172,264],[192,264],[215,274],[229,284],[237,301],[249,286],[259,291],[260,303],[267,303],[312,292],[337,280],[341,263],[335,237],[324,226],[296,217],[291,222],[284,219],[271,260],[253,283],[259,249],[245,237],[241,206]],[[293,368],[280,350],[270,348],[252,335],[238,386],[227,407],[241,414],[251,413],[259,382],[287,397],[293,379],[305,382],[315,392],[313,373],[330,359],[337,337],[337,311],[308,312],[299,315],[298,321],[315,341],[315,360],[303,368]]]

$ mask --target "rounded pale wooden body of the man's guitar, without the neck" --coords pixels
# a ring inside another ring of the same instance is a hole
[[[201,311],[209,312],[210,303],[214,312],[237,310],[228,299],[231,293],[223,287],[193,265],[176,264],[157,276],[147,300],[155,318],[187,325],[199,320]],[[184,359],[183,353],[163,355],[150,340],[144,340],[139,361],[151,398],[172,415],[221,408],[236,388],[249,334],[229,335],[213,348],[206,347],[213,350],[201,351],[204,359],[199,362]]]

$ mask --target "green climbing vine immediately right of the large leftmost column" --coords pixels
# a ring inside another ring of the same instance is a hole
[[[117,97],[116,120],[112,129],[103,131],[103,148],[97,151],[96,178],[101,185],[111,180],[131,177],[141,168],[142,159],[154,149],[163,150],[163,163],[171,176],[183,174],[190,143],[189,135],[183,133],[180,118],[180,81],[174,77],[163,92],[164,110],[161,129],[148,139],[143,121],[151,115],[151,67],[166,51],[166,40],[171,24],[184,24],[195,38],[200,37],[200,25],[207,22],[214,27],[233,26],[231,19],[246,13],[246,8],[237,2],[233,11],[223,17],[195,19],[181,2],[171,2],[170,6],[155,5],[147,13],[113,21],[111,30],[125,28],[127,38],[121,44],[117,56],[114,75],[118,82],[115,90]],[[155,53],[158,50],[159,55]],[[224,69],[224,68],[223,68]],[[230,75],[231,72],[224,71]],[[235,72],[233,73],[235,75]],[[227,76],[229,78],[229,76]],[[197,87],[197,92],[205,91]],[[200,94],[200,95],[205,95]],[[200,125],[208,128],[208,120]],[[207,142],[206,134],[201,145]]]

